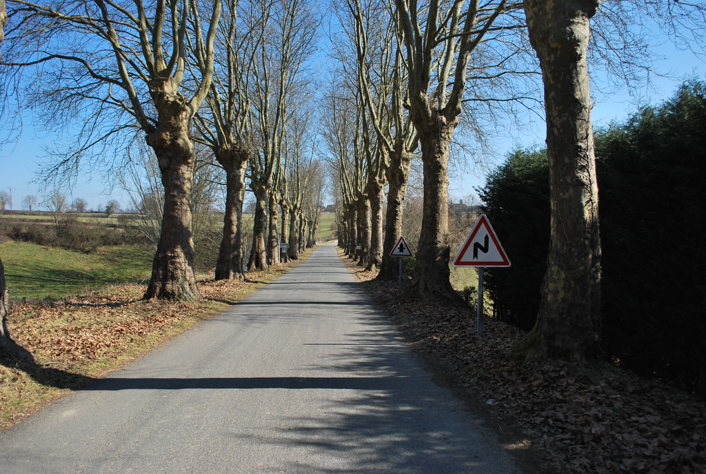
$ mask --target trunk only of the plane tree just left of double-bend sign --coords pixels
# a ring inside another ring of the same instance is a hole
[[[451,253],[448,236],[448,153],[458,120],[448,120],[440,114],[436,117],[431,124],[414,123],[424,162],[424,212],[412,288],[421,294],[457,300],[459,297],[451,286],[448,267]]]

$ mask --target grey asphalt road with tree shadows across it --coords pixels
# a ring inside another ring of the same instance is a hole
[[[333,246],[0,434],[2,473],[519,473]]]

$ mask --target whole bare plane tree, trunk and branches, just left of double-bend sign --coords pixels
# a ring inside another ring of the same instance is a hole
[[[409,72],[407,93],[412,119],[424,164],[424,213],[414,287],[429,293],[456,299],[449,281],[450,244],[448,237],[448,158],[451,139],[459,124],[465,99],[469,64],[474,61],[474,81],[508,73],[503,57],[491,54],[482,45],[489,37],[501,37],[515,28],[511,18],[521,3],[478,0],[417,4],[414,0],[395,0],[404,32],[405,63]],[[498,25],[496,25],[498,23]],[[490,33],[490,35],[489,35]],[[497,45],[509,45],[498,41]],[[480,53],[481,50],[485,54]],[[497,51],[497,50],[496,50]],[[487,54],[490,54],[487,56]],[[505,59],[514,53],[508,51]],[[484,58],[491,63],[483,63]],[[492,69],[481,69],[486,66]]]

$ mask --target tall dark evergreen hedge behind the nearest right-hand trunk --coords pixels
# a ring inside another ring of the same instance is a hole
[[[602,355],[706,397],[706,85],[596,133]],[[546,152],[520,150],[479,189],[513,266],[486,271],[496,316],[530,330],[549,248]]]

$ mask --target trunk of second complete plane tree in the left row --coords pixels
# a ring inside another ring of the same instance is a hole
[[[243,273],[243,201],[245,199],[245,168],[248,153],[237,150],[217,150],[216,159],[226,172],[225,216],[223,239],[216,262],[215,280],[244,280]]]

